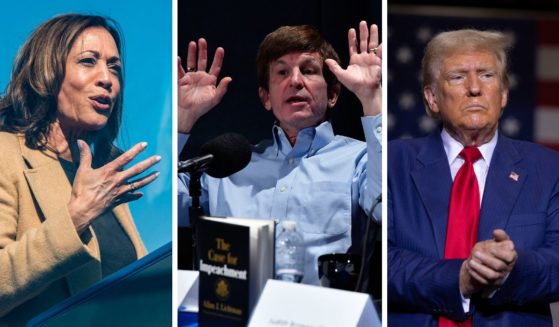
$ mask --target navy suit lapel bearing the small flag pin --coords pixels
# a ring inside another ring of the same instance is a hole
[[[527,177],[528,169],[513,142],[499,135],[481,202],[479,240],[491,239],[494,229],[506,226]]]

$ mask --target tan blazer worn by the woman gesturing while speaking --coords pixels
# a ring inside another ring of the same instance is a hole
[[[53,152],[0,132],[0,327],[23,325],[101,279],[95,233],[77,234],[66,208],[70,192]],[[113,212],[144,256],[128,206]]]

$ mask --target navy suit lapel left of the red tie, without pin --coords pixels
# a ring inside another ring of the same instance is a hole
[[[443,258],[452,177],[440,133],[427,138],[417,161],[411,175],[431,220],[439,256]]]

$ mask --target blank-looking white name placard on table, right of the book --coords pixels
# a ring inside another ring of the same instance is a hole
[[[268,280],[249,326],[381,326],[369,295]]]

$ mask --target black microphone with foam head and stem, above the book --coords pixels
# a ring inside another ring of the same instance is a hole
[[[250,162],[250,143],[238,133],[226,133],[206,142],[199,156],[179,161],[179,172],[203,172],[215,178],[230,176]]]

